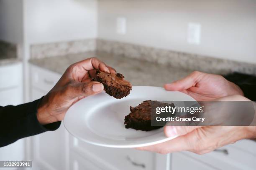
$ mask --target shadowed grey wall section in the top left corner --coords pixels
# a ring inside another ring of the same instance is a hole
[[[22,0],[0,0],[0,40],[22,43]]]

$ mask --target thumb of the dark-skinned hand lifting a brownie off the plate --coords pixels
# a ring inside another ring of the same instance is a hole
[[[100,82],[76,82],[69,85],[67,95],[75,97],[87,97],[101,92],[104,86]]]

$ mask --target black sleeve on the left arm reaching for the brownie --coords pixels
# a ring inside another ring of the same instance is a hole
[[[41,125],[36,117],[41,99],[22,105],[0,107],[0,147],[16,140],[59,128],[61,121]]]

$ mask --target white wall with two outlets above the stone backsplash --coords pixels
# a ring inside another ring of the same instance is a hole
[[[99,0],[98,36],[256,63],[255,0]],[[116,34],[116,18],[127,34]],[[188,23],[201,24],[201,44],[187,43]]]

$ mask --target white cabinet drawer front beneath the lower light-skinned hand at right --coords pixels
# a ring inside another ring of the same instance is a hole
[[[256,153],[256,147],[252,147],[251,150]],[[218,151],[212,151],[205,155],[197,155],[189,152],[184,152],[184,154],[221,170],[253,170],[256,167],[256,155],[241,150],[239,147],[236,147],[236,144],[226,145],[219,148]]]

